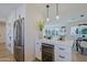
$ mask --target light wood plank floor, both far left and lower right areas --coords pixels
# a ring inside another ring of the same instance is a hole
[[[73,62],[87,62],[87,55],[75,52],[73,54]],[[0,62],[15,62],[13,55],[7,51],[4,43],[0,43]]]

